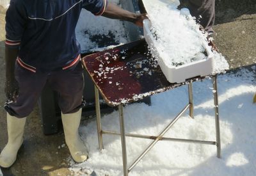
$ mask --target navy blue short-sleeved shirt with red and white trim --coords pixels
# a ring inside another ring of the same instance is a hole
[[[32,72],[68,68],[79,60],[75,28],[81,9],[101,15],[107,3],[107,0],[11,0],[6,12],[6,47],[19,47],[18,63]]]

